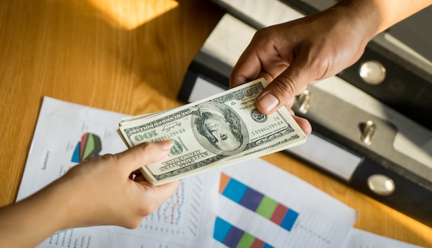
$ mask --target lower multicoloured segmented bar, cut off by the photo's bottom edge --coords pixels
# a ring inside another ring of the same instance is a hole
[[[266,242],[217,216],[213,238],[228,247],[271,248]]]

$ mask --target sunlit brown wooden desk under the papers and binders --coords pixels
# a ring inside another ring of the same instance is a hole
[[[125,114],[181,105],[222,12],[206,0],[0,1],[0,205],[14,202],[43,96]],[[284,154],[265,159],[359,211],[355,227],[432,247],[432,230]]]

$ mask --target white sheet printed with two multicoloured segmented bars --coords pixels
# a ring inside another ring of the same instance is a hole
[[[342,245],[353,209],[265,161],[253,162],[220,174],[216,247]]]

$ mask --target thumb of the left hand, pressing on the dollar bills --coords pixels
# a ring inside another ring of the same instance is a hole
[[[172,145],[173,140],[141,143],[117,154],[117,159],[119,164],[125,165],[125,173],[130,174],[144,165],[160,161],[168,155]]]

